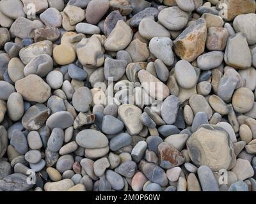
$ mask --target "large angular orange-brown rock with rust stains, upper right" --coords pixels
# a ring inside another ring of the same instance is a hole
[[[202,18],[189,25],[174,41],[174,50],[181,59],[194,61],[205,49],[206,22]]]

